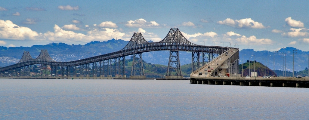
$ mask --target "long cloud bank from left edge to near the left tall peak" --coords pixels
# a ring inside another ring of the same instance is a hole
[[[76,29],[74,25],[65,25],[65,29]],[[112,38],[121,38],[125,35],[117,29],[100,28],[87,31],[87,34],[66,31],[58,25],[54,26],[54,31],[46,33],[37,33],[28,27],[20,27],[10,20],[0,20],[0,39],[13,40],[48,40],[57,42],[89,42],[93,40],[109,40]]]

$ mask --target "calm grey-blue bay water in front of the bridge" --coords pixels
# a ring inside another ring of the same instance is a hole
[[[309,119],[309,89],[189,80],[0,79],[0,119]]]

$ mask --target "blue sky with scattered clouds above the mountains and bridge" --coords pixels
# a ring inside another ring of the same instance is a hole
[[[0,1],[0,46],[85,44],[177,27],[192,43],[309,51],[309,1]]]

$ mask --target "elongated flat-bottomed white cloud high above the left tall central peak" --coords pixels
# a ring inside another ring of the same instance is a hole
[[[126,27],[155,27],[159,26],[159,24],[155,21],[147,22],[145,19],[137,19],[137,20],[129,20],[127,24],[125,24]]]

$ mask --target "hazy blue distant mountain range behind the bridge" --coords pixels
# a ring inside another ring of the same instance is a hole
[[[152,41],[149,41],[152,42]],[[110,52],[116,52],[125,47],[125,45],[129,43],[129,41],[125,41],[122,39],[111,39],[108,41],[92,41],[85,45],[69,45],[66,43],[49,43],[47,45],[33,45],[31,47],[3,47],[0,46],[0,66],[8,66],[11,64],[15,64],[22,57],[24,51],[29,51],[33,58],[36,58],[41,49],[47,49],[49,55],[58,62],[65,61],[73,61],[84,59],[92,56],[98,56]],[[286,68],[287,71],[292,71],[293,67],[293,50],[296,48],[282,48],[278,52],[275,52],[275,69],[283,70],[283,58],[284,53],[286,53]],[[295,71],[304,70],[308,67],[308,56],[309,52],[304,52],[301,50],[295,51]],[[179,52],[180,54],[180,63],[181,65],[190,64],[191,63],[191,52]],[[246,56],[243,56],[246,54]],[[251,56],[254,55],[254,56]],[[267,60],[267,56],[269,56],[269,60]],[[243,49],[239,52],[239,64],[243,61],[247,60],[255,60],[260,62],[261,64],[265,64],[270,69],[273,69],[273,52],[270,51],[253,51],[253,49]],[[243,57],[243,58],[242,58]],[[251,58],[252,57],[252,58]],[[162,64],[167,65],[169,58],[169,51],[154,51],[154,52],[145,52],[142,54],[142,59],[151,64]],[[263,60],[263,58],[265,60]],[[127,56],[126,59],[130,59],[130,56]],[[267,61],[269,65],[267,65]]]

